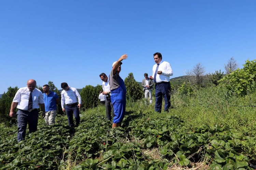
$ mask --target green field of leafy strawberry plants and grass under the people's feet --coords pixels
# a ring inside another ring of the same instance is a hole
[[[221,87],[175,92],[169,113],[144,99],[127,103],[122,128],[112,130],[99,106],[81,112],[75,129],[66,116],[54,126],[40,118],[19,143],[16,125],[0,124],[0,169],[250,169],[255,101],[256,93],[229,97]]]

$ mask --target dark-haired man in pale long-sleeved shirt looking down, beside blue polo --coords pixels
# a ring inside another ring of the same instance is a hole
[[[73,114],[76,121],[76,127],[80,123],[79,109],[81,107],[82,98],[76,88],[69,87],[67,83],[61,83],[61,107],[66,112],[69,126],[74,127]],[[78,102],[77,102],[78,99]]]

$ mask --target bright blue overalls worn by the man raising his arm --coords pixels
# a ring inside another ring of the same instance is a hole
[[[122,78],[119,79],[119,87],[111,90],[111,102],[114,107],[113,123],[121,123],[125,117],[126,106],[126,87]]]

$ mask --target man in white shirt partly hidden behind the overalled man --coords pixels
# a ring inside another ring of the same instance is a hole
[[[110,99],[111,92],[110,92],[109,79],[105,73],[100,74],[100,79],[102,80],[102,89],[103,89],[102,94],[106,96],[106,100],[105,100],[106,117],[108,121],[111,121],[111,112],[114,117],[114,108]]]

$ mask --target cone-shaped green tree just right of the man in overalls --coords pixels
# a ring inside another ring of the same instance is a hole
[[[134,79],[133,73],[129,73],[128,77],[125,78],[126,86],[126,99],[128,101],[136,102],[143,97],[140,84]]]

